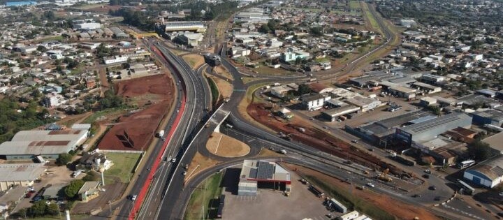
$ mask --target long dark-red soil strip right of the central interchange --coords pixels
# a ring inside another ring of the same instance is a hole
[[[314,129],[312,126],[308,126],[295,118],[291,119],[290,122],[285,122],[279,117],[272,116],[270,107],[263,103],[251,103],[248,105],[247,112],[257,122],[275,131],[288,134],[294,141],[316,147],[323,152],[348,159],[355,163],[362,164],[363,166],[376,168],[378,170],[389,168],[391,173],[395,175],[400,175],[402,173],[402,170],[395,168],[395,166],[381,161],[367,152],[359,151],[356,147],[351,147],[347,142],[330,136],[328,133],[320,131],[319,129]],[[305,132],[300,132],[298,130],[299,128],[305,129]]]

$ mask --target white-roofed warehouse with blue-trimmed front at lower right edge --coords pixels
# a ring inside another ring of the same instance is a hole
[[[493,156],[466,169],[463,177],[474,184],[493,188],[503,182],[503,155]]]

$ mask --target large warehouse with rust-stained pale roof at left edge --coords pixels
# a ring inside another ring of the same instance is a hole
[[[75,150],[86,140],[88,130],[20,131],[11,141],[0,144],[0,158],[30,160],[36,156],[57,159],[59,154]]]

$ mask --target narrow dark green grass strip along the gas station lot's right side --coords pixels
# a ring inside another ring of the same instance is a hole
[[[357,196],[353,196],[351,192],[347,191],[347,189],[340,189],[335,186],[331,186],[310,175],[305,177],[305,179],[328,192],[330,196],[348,207],[348,209],[363,212],[367,216],[372,217],[372,219],[395,219],[392,214],[388,214],[388,212],[381,210],[379,207],[377,207],[377,205],[369,203],[366,200],[358,198]]]

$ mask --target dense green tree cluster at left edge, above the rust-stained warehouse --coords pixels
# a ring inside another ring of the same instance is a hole
[[[38,104],[35,102],[22,107],[12,96],[0,100],[0,112],[0,142],[10,140],[17,131],[54,122],[54,119],[48,117],[47,109],[38,110]]]

